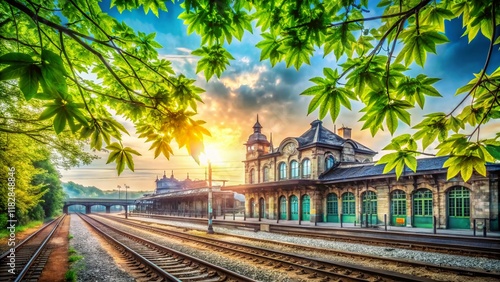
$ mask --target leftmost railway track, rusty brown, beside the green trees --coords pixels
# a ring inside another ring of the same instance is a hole
[[[52,249],[48,242],[63,222],[62,215],[0,256],[0,281],[37,281]]]

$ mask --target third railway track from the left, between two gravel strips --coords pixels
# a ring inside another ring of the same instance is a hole
[[[238,260],[247,260],[251,263],[266,265],[277,270],[281,269],[282,271],[293,272],[301,277],[301,279],[307,281],[434,281],[426,277],[406,275],[348,263],[334,262],[317,257],[271,250],[269,248],[258,248],[248,244],[228,242],[228,240],[224,239],[217,240],[212,237],[196,236],[186,234],[185,232],[165,230],[152,227],[147,224],[131,222],[130,220],[124,221],[114,217],[112,220],[116,220],[120,224],[135,227],[143,231],[146,230],[160,234],[162,237],[176,237],[190,243],[195,242],[204,248],[208,247],[213,251],[238,258]],[[262,242],[263,240],[258,241]],[[278,242],[272,243],[275,245],[281,245]],[[303,246],[294,245],[293,247],[302,248]],[[314,248],[309,249],[309,251],[311,250],[318,251],[318,249]],[[397,263],[400,262],[398,261]],[[369,263],[367,264],[369,265]],[[440,270],[442,271],[443,269],[441,268]]]

